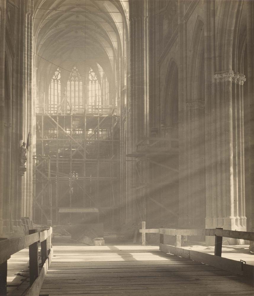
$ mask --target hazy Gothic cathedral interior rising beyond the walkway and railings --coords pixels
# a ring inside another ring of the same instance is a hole
[[[0,0],[0,22],[0,237],[254,231],[254,1]]]

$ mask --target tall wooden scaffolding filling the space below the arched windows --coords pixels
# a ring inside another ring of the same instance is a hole
[[[67,224],[60,207],[96,207],[113,225],[119,194],[119,117],[112,106],[36,114],[34,217]]]

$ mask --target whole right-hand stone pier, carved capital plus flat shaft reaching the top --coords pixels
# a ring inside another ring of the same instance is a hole
[[[246,230],[244,192],[244,75],[215,73],[215,1],[205,1],[205,227]],[[208,240],[208,238],[207,238]]]

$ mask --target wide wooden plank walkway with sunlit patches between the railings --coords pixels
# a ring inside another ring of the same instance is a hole
[[[55,246],[40,295],[254,295],[227,271],[162,253],[157,247]]]

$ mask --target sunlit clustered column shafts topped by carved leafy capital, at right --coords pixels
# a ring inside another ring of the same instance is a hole
[[[244,75],[233,71],[218,72],[216,101],[211,105],[215,115],[216,165],[208,168],[216,193],[207,196],[206,228],[246,230],[244,192],[243,92]],[[210,139],[212,141],[212,139]],[[213,144],[212,144],[213,145]]]

